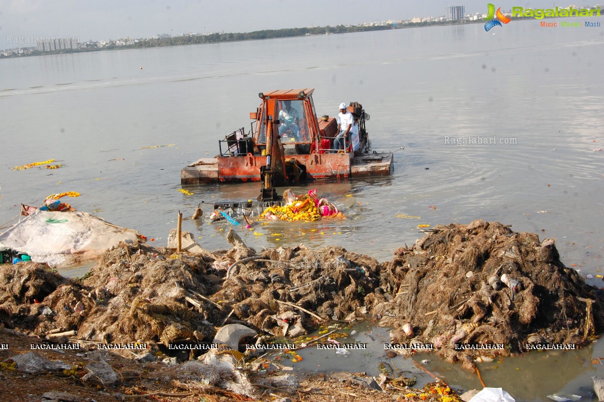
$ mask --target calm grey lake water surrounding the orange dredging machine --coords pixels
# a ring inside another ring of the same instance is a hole
[[[595,276],[604,268],[603,65],[604,28],[537,20],[489,32],[472,24],[0,60],[0,224],[21,203],[76,191],[65,199],[76,209],[165,245],[179,210],[259,194],[257,184],[237,184],[184,195],[180,169],[249,128],[259,92],[315,88],[319,115],[360,102],[373,149],[405,149],[389,178],[294,188],[318,188],[345,221],[256,227],[262,235],[239,228],[248,245],[336,244],[387,261],[423,235],[418,224],[484,219],[555,238],[564,264]],[[496,143],[451,144],[459,137]],[[64,166],[11,170],[49,159]],[[185,220],[183,230],[210,250],[228,248],[228,224]],[[604,377],[590,357],[602,354],[596,345],[545,362],[506,359],[513,369],[483,377],[516,400],[588,395],[590,376]],[[554,360],[564,375],[545,375]],[[452,383],[477,385],[431,364]],[[515,368],[539,384],[521,384]]]

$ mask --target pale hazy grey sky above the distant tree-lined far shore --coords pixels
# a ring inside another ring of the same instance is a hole
[[[491,0],[492,1],[492,0]],[[158,33],[249,32],[262,29],[445,15],[464,5],[466,13],[486,13],[486,0],[0,0],[0,49],[17,47],[15,38],[77,36],[80,42]],[[503,2],[501,2],[503,4]],[[559,2],[561,3],[561,2]],[[510,4],[510,2],[506,2]],[[544,8],[551,0],[519,0],[514,5]],[[504,5],[504,7],[508,7]],[[31,39],[30,39],[31,41]],[[13,42],[13,43],[11,43]]]

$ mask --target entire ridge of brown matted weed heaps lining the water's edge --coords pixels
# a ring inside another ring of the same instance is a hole
[[[233,244],[175,254],[121,243],[79,281],[2,265],[0,320],[37,336],[167,344],[211,342],[226,323],[295,337],[319,319],[373,315],[394,327],[393,342],[432,343],[466,368],[490,352],[456,345],[503,344],[506,355],[527,343],[580,344],[604,325],[599,290],[564,267],[553,241],[498,223],[435,227],[385,263],[341,247]]]

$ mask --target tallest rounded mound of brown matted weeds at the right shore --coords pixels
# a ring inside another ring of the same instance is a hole
[[[499,223],[439,225],[384,268],[381,286],[395,297],[373,314],[396,328],[393,342],[432,343],[466,368],[495,351],[456,345],[503,344],[501,355],[582,345],[604,324],[602,291],[560,262],[553,240]]]

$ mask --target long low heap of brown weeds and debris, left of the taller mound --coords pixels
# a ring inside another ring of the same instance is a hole
[[[0,311],[28,334],[76,331],[77,339],[100,343],[210,343],[228,322],[294,337],[312,328],[311,315],[353,320],[385,301],[374,293],[378,265],[341,247],[257,254],[239,243],[193,254],[121,243],[80,281],[33,262],[6,265]]]

